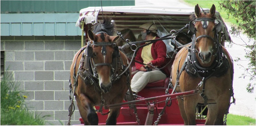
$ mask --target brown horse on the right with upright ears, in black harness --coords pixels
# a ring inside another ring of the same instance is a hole
[[[206,125],[223,125],[233,96],[233,61],[228,51],[219,44],[221,23],[215,24],[215,6],[210,13],[201,13],[195,6],[195,24],[189,30],[195,34],[191,47],[182,48],[172,66],[172,85],[177,92],[198,89],[199,93],[178,98],[185,125],[196,125],[196,105],[207,104]],[[200,85],[198,85],[200,83]],[[203,86],[202,86],[203,85]],[[234,99],[233,99],[234,100]]]

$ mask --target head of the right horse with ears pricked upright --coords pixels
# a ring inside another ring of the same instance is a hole
[[[214,51],[217,47],[216,33],[221,30],[221,25],[215,24],[215,6],[212,4],[210,13],[201,13],[198,4],[195,6],[195,24],[189,23],[189,31],[196,36],[195,49],[197,50],[197,61],[200,61],[202,66],[211,65],[214,60]]]

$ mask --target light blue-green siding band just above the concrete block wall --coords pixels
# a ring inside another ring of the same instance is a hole
[[[78,13],[1,14],[1,36],[76,36]]]

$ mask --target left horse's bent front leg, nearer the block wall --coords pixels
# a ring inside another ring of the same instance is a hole
[[[87,112],[87,121],[90,123],[90,125],[98,125],[99,118],[95,110],[92,106],[92,101],[86,97],[83,93],[80,94],[80,101],[81,105],[83,106],[84,110]]]

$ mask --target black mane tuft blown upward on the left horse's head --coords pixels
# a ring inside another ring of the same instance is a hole
[[[93,26],[93,33],[106,32],[108,35],[113,36],[115,24],[111,23],[111,19],[108,17],[103,18],[103,23],[96,24]]]

